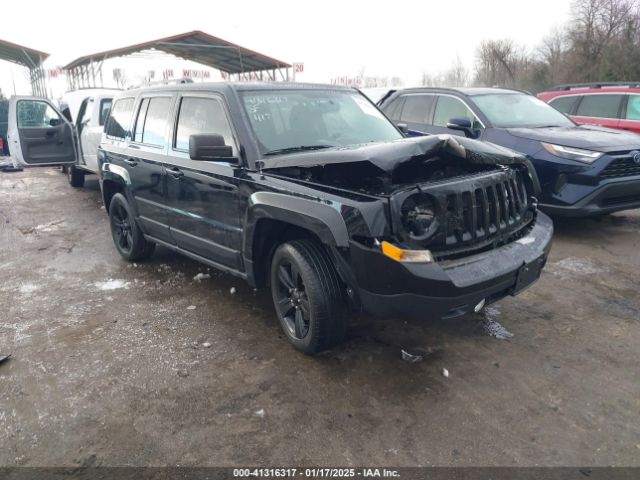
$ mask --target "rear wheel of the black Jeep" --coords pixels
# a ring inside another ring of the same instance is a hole
[[[111,236],[116,249],[129,262],[149,258],[156,244],[144,238],[136,223],[131,206],[124,195],[116,193],[109,204],[109,223]]]

